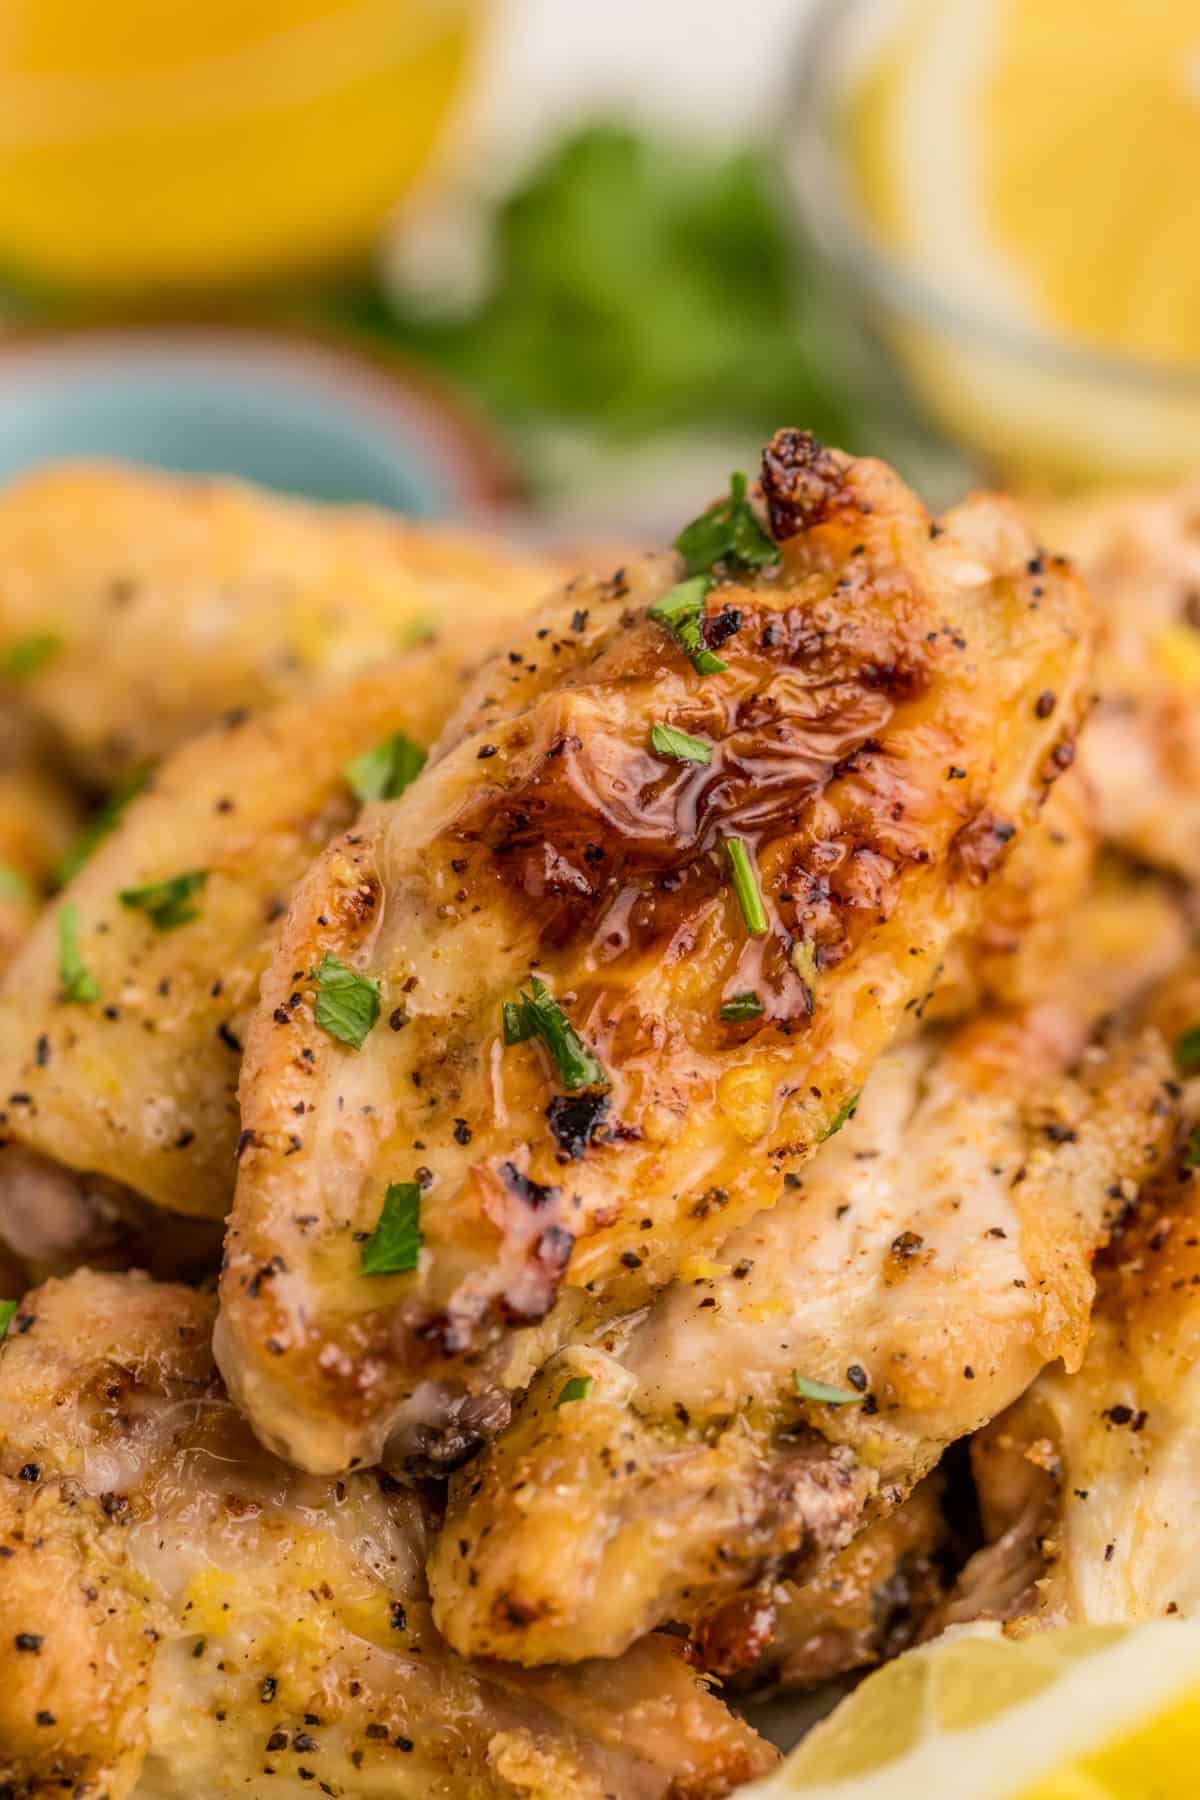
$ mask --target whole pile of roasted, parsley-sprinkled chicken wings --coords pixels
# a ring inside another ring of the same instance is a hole
[[[0,1795],[707,1800],[1200,1607],[1196,504],[0,495]]]

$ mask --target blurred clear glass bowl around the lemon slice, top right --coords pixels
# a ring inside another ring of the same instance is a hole
[[[959,0],[981,5],[988,0]],[[817,0],[799,45],[783,167],[806,234],[936,425],[1015,484],[1162,481],[1200,463],[1200,367],[1031,329],[889,254],[856,203],[847,104],[896,0]],[[937,95],[930,94],[930,104]]]

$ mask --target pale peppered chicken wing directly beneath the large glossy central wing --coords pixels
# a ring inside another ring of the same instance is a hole
[[[1173,1130],[1157,1031],[1081,1049],[1056,1006],[892,1049],[772,1211],[554,1357],[452,1480],[446,1636],[612,1656],[801,1580],[1040,1368],[1076,1368],[1094,1247]]]

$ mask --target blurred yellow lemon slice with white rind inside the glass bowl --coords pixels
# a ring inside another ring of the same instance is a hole
[[[946,292],[1200,364],[1195,0],[914,0],[856,133],[867,218]]]

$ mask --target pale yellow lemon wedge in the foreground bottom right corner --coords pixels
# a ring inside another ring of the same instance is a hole
[[[1200,1624],[968,1625],[873,1674],[747,1800],[1186,1800]]]

